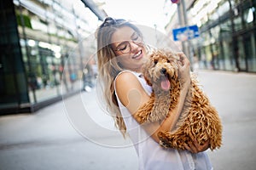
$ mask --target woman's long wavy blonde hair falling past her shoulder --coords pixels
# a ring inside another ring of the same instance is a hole
[[[115,126],[119,128],[119,131],[126,136],[126,127],[124,119],[119,110],[118,101],[114,93],[114,79],[123,69],[118,64],[116,55],[111,47],[111,38],[113,33],[123,26],[129,26],[131,29],[137,32],[140,37],[143,37],[142,32],[137,26],[131,24],[131,22],[122,19],[113,19],[107,17],[102,25],[96,30],[96,42],[97,42],[97,66],[98,66],[98,80],[102,84],[103,98],[107,104],[108,113],[113,116]]]

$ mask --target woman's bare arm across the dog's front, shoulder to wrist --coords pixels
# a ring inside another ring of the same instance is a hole
[[[168,116],[163,122],[151,122],[143,125],[143,128],[149,135],[156,141],[159,142],[157,133],[160,131],[170,131],[177,121],[183,102],[186,96],[188,88],[183,88],[180,98],[178,99],[177,107],[172,110],[171,116]],[[123,105],[131,112],[131,115],[135,114],[137,110],[148,102],[149,96],[144,91],[137,77],[131,72],[124,72],[116,80],[116,92],[119,96],[120,101]]]

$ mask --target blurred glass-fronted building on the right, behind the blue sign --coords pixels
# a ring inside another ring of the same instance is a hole
[[[256,72],[255,2],[221,1],[207,14],[193,41],[201,69]]]

